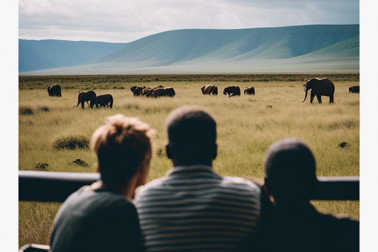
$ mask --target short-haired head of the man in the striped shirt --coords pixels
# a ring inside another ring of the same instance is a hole
[[[167,156],[175,166],[212,164],[217,157],[217,124],[205,111],[183,106],[166,120]]]

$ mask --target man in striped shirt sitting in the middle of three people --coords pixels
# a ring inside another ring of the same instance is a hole
[[[181,107],[166,126],[174,167],[135,197],[146,251],[242,251],[255,237],[260,189],[214,172],[216,123],[208,113]]]

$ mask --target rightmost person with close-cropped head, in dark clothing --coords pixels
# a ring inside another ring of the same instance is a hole
[[[275,143],[265,161],[261,194],[261,250],[266,252],[359,251],[359,221],[316,211],[315,158],[294,138]]]

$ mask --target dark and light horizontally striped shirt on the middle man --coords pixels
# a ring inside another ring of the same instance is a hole
[[[135,203],[147,252],[231,252],[256,232],[260,189],[210,166],[178,166],[141,187]]]

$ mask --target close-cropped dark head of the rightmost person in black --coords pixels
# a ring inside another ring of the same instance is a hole
[[[276,204],[308,203],[315,189],[315,158],[295,138],[273,144],[265,160],[265,189]]]

